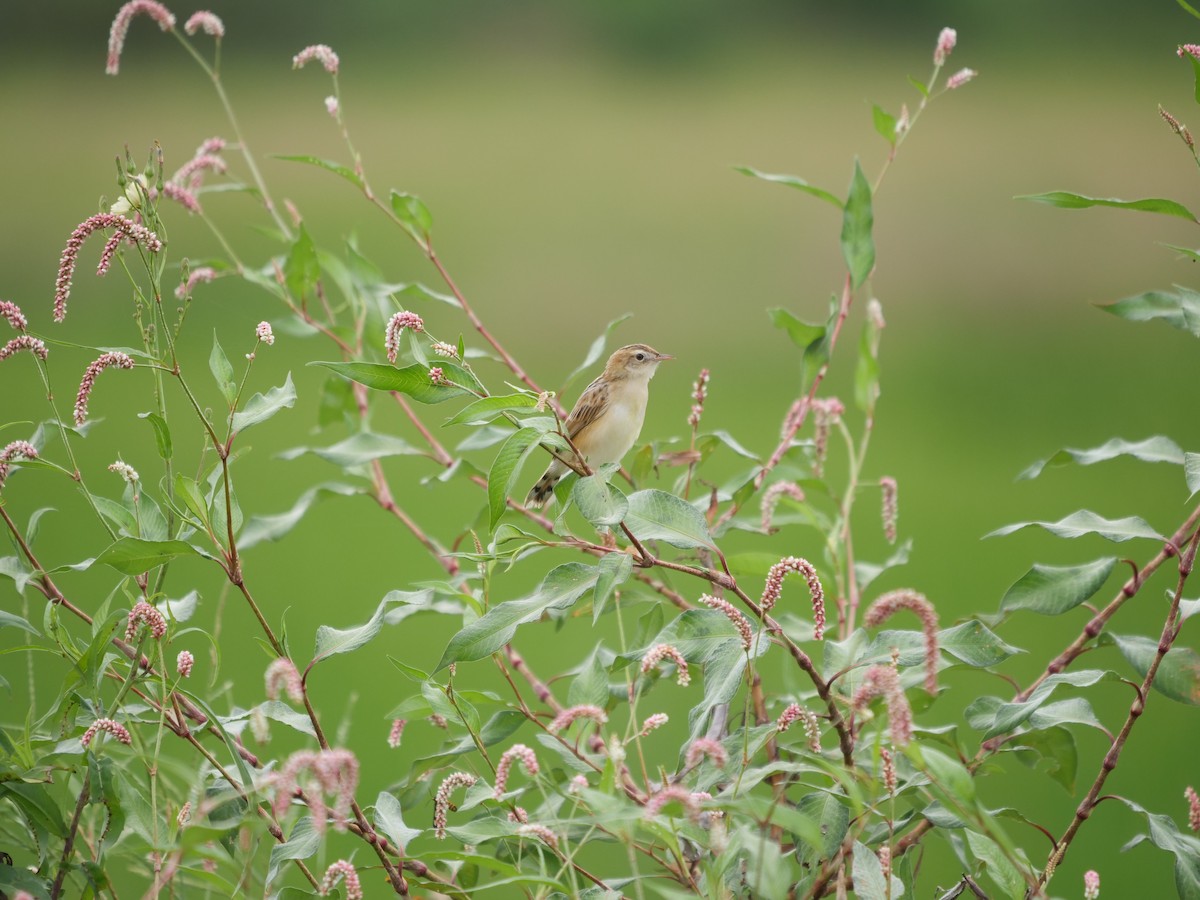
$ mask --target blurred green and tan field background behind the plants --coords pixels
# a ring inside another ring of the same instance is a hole
[[[25,308],[35,332],[90,346],[136,342],[127,289],[116,277],[91,275],[88,260],[98,247],[84,253],[66,324],[49,323],[67,234],[97,209],[102,194],[116,192],[113,156],[128,145],[143,158],[158,140],[170,170],[204,138],[229,137],[203,74],[146,19],[133,23],[120,76],[103,74],[116,8],[10,5],[0,26],[6,175],[0,179],[6,210],[0,296]],[[191,12],[173,10],[180,22]],[[1194,200],[1193,163],[1157,112],[1162,103],[1188,122],[1195,108],[1192,71],[1175,47],[1195,40],[1200,22],[1172,2],[274,1],[218,2],[212,10],[227,26],[223,73],[247,142],[276,199],[290,198],[319,242],[336,248],[355,235],[388,278],[436,283],[413,247],[349,186],[270,158],[347,160],[322,102],[330,92],[326,76],[316,66],[290,68],[292,54],[314,42],[331,44],[342,56],[342,108],[372,184],[425,199],[442,258],[484,320],[536,378],[559,383],[605,323],[634,313],[618,342],[646,341],[678,358],[654,382],[643,437],[683,433],[691,382],[708,367],[713,380],[704,426],[728,430],[764,454],[778,439],[799,372],[796,353],[769,326],[764,310],[786,306],[808,319],[823,314],[842,266],[840,222],[826,204],[751,181],[732,167],[788,172],[842,193],[858,156],[872,176],[887,148],[871,127],[871,103],[892,113],[901,103],[914,108],[918,97],[906,76],[925,79],[938,30],[958,28],[959,47],[947,71],[970,66],[980,74],[936,100],[875,204],[878,268],[871,290],[888,326],[868,474],[899,480],[901,533],[914,540],[911,564],[878,587],[923,590],[946,622],[994,612],[1008,584],[1033,562],[1067,564],[1114,552],[1098,540],[1056,541],[1032,530],[980,542],[996,527],[1055,520],[1079,508],[1110,517],[1142,515],[1164,533],[1184,517],[1187,492],[1172,467],[1116,462],[1013,481],[1028,462],[1061,446],[1093,446],[1114,436],[1162,433],[1186,449],[1200,448],[1189,390],[1198,374],[1193,340],[1091,308],[1189,282],[1188,264],[1157,246],[1194,242],[1187,226],[1013,199],[1061,188]],[[210,49],[204,38],[197,44]],[[234,168],[245,174],[244,167]],[[265,218],[248,198],[210,194],[205,204],[246,258],[276,252],[259,230]],[[173,263],[220,252],[202,223],[174,215]],[[264,295],[232,281],[202,286],[193,307],[187,359],[205,389],[212,328],[238,359],[250,349],[248,340],[245,347],[239,341],[256,322],[282,319],[282,310]],[[422,313],[440,337],[466,326],[446,307]],[[830,392],[845,397],[857,329],[856,314],[830,377]],[[281,511],[308,485],[338,476],[312,457],[275,458],[289,446],[338,437],[311,433],[323,378],[305,362],[330,350],[277,331],[276,346],[259,353],[254,389],[265,390],[292,371],[300,400],[248,440],[253,454],[239,473],[247,514]],[[52,356],[64,408],[88,359],[68,348]],[[150,431],[134,416],[149,408],[149,380],[139,382],[139,374],[103,376],[92,404],[94,415],[106,421],[88,438],[84,456],[94,470],[85,474],[94,490],[114,497],[119,490],[106,481],[112,476],[103,466],[118,452],[144,478],[155,472]],[[4,364],[0,408],[5,421],[44,415],[28,360]],[[438,414],[431,420],[437,422]],[[857,426],[857,416],[851,420]],[[379,431],[412,437],[391,409],[380,409],[373,422]],[[176,446],[198,449],[199,436],[180,430]],[[26,437],[26,431],[18,426],[4,437]],[[401,504],[439,539],[454,540],[474,518],[481,502],[474,488],[419,482],[434,474],[432,464],[409,460],[390,463],[389,470],[403,485]],[[77,562],[104,546],[73,490],[47,474],[14,479],[5,499],[18,520],[42,505],[59,510],[42,526],[40,548],[48,564]],[[864,533],[871,530],[874,504],[864,499]],[[770,547],[817,556],[812,540],[811,533],[791,529]],[[1154,551],[1122,545],[1115,552],[1145,560]],[[880,558],[884,547],[868,536],[860,552]],[[496,599],[520,595],[551,562],[502,580]],[[277,622],[288,610],[298,658],[307,653],[318,624],[365,620],[386,590],[439,571],[366,499],[326,502],[286,541],[253,550],[247,566],[269,617]],[[192,575],[202,587],[202,622],[221,620],[216,684],[233,683],[232,698],[256,702],[265,658],[251,638],[248,614],[235,598],[222,599],[209,572],[179,566],[176,574],[180,593]],[[1160,592],[1169,583],[1166,576],[1144,592],[1117,630],[1157,635]],[[61,584],[68,595],[78,592],[86,608],[107,592],[86,576],[66,575]],[[5,590],[4,607],[19,610],[23,601]],[[28,602],[38,620],[41,604],[32,595]],[[1027,680],[1074,637],[1084,616],[1078,611],[1048,622],[1026,614],[1007,623],[1004,636],[1031,653],[1006,671]],[[365,758],[365,797],[437,740],[428,728],[413,726],[406,748],[384,756],[384,716],[412,690],[385,654],[430,668],[451,625],[410,619],[365,652],[326,664],[314,679],[318,707],[335,722],[338,709],[346,710],[344,724],[331,731],[341,731]],[[588,636],[576,630],[570,634],[581,643],[541,640],[550,637],[546,628],[526,649],[534,667],[548,674],[577,660]],[[11,646],[16,638],[0,640]],[[1094,665],[1123,662],[1110,649],[1098,653]],[[24,659],[0,658],[0,673],[12,683],[0,710],[17,710],[0,718],[19,722],[30,694]],[[60,666],[38,660],[32,680],[49,696],[61,674]],[[1006,692],[1001,682],[984,677],[950,684],[930,713],[938,722],[952,719],[946,710],[965,706],[973,691]],[[1127,689],[1110,686],[1098,709],[1116,728],[1127,703]],[[1109,790],[1182,821],[1183,786],[1200,779],[1194,762],[1200,727],[1193,710],[1162,696],[1152,698],[1150,713]],[[277,736],[271,751],[283,751],[288,740]],[[1081,733],[1080,748],[1082,790],[1104,740]],[[1016,774],[1026,793],[995,779],[983,785],[988,800],[1018,805],[1061,833],[1074,803],[1044,775]],[[988,796],[991,784],[1000,787],[995,796]],[[420,809],[409,817],[422,823],[428,815]],[[1144,845],[1116,856],[1140,828],[1123,808],[1102,806],[1060,869],[1055,893],[1080,894],[1082,870],[1097,868],[1105,896],[1169,895],[1166,854]],[[1016,826],[1010,830],[1036,860],[1044,859],[1040,835],[1016,832]],[[958,877],[946,853],[935,851],[929,865],[937,866],[943,884]]]

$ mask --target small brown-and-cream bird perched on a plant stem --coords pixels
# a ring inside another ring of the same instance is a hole
[[[608,358],[604,372],[580,395],[563,431],[588,466],[620,462],[637,440],[646,419],[650,379],[664,360],[674,359],[644,343],[622,347]],[[538,509],[554,496],[554,485],[570,470],[559,458],[546,467],[526,497]]]

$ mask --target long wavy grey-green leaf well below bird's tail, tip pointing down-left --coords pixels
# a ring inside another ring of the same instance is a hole
[[[475,619],[450,638],[434,673],[451,662],[469,662],[490,656],[512,640],[518,625],[535,622],[551,610],[572,606],[595,584],[598,574],[596,566],[583,563],[564,563],[551,569],[533,594],[493,606],[482,618]]]

